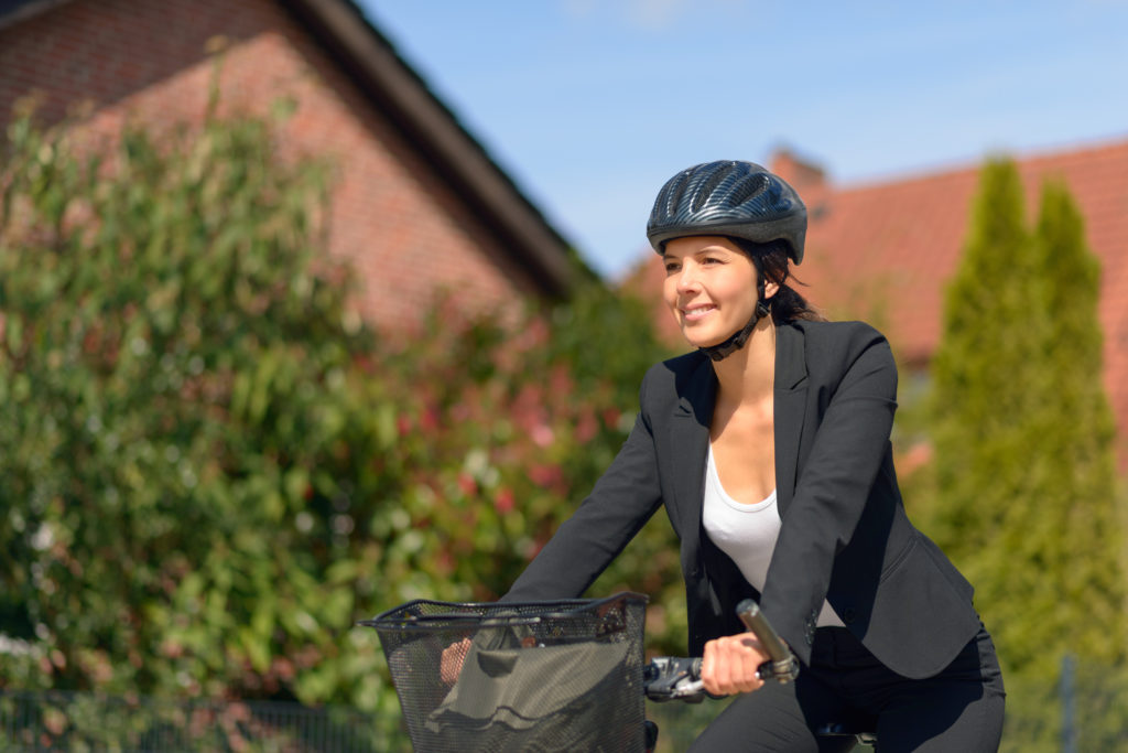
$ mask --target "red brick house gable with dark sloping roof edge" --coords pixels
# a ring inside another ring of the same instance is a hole
[[[350,0],[0,0],[0,121],[37,115],[114,133],[126,119],[199,122],[222,49],[221,106],[296,105],[291,154],[337,169],[329,253],[358,305],[411,327],[437,291],[466,309],[564,298],[569,244]]]

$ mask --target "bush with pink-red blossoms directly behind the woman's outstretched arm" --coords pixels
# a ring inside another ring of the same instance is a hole
[[[395,382],[405,386],[399,404],[417,417],[404,427],[399,454],[429,470],[420,488],[453,516],[428,520],[438,524],[438,540],[424,546],[439,562],[449,560],[441,572],[451,584],[447,593],[491,599],[509,589],[610,464],[634,423],[642,375],[669,353],[642,301],[594,283],[549,316],[530,314],[514,329],[482,317],[452,331],[455,321],[440,307],[417,344],[390,361],[399,369]],[[685,590],[664,515],[591,594],[623,589],[652,598],[649,643],[684,651],[686,621],[669,618],[684,614]],[[404,595],[434,593],[429,583]]]

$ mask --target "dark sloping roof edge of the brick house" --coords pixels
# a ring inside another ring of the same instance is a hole
[[[564,297],[578,273],[593,275],[482,143],[400,58],[352,0],[274,0],[285,8],[399,131],[400,135],[501,239],[549,297]],[[0,28],[73,0],[0,0]]]

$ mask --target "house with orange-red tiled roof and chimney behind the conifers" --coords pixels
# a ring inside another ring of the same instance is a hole
[[[1064,181],[1085,218],[1101,263],[1099,316],[1104,330],[1104,385],[1116,415],[1121,467],[1128,459],[1128,140],[1016,160],[1026,191],[1028,220],[1042,184]],[[795,270],[802,292],[830,318],[863,318],[881,327],[898,359],[923,368],[941,335],[944,283],[955,271],[979,167],[838,186],[790,151],[769,168],[803,196],[810,217],[807,257]],[[662,275],[653,254],[626,284],[656,291]],[[654,296],[654,292],[647,295]],[[660,307],[660,303],[655,303]],[[658,314],[677,338],[669,314]]]

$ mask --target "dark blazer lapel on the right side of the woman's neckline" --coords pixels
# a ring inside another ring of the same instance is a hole
[[[799,446],[807,408],[807,359],[803,333],[794,326],[776,329],[775,367],[775,465],[776,501],[779,514],[787,509],[795,493],[799,473]]]

